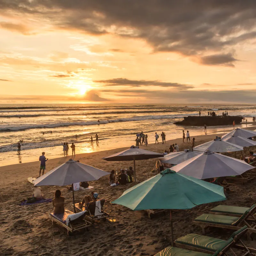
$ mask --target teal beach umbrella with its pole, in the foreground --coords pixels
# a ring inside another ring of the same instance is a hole
[[[112,203],[134,211],[147,209],[191,209],[199,204],[226,200],[223,187],[166,169],[132,188]]]

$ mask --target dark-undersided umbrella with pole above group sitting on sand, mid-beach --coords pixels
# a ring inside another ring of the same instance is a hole
[[[147,160],[150,158],[159,158],[163,157],[163,154],[148,151],[140,148],[129,148],[124,151],[118,152],[114,155],[104,157],[102,159],[107,161],[133,161],[134,166],[134,182],[136,184],[136,170],[135,170],[135,161],[136,160]]]

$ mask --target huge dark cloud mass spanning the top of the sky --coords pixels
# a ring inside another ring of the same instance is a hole
[[[204,65],[233,67],[232,54],[205,55],[225,55],[256,34],[255,0],[1,0],[0,10],[34,13],[63,29],[144,39],[155,52],[200,56]]]

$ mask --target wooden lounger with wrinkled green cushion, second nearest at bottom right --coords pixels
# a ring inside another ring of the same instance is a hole
[[[235,256],[236,254],[234,253],[233,248],[236,248],[238,250],[242,250],[244,252],[244,256],[250,252],[256,252],[256,249],[246,247],[246,245],[240,239],[247,231],[247,226],[244,226],[239,230],[235,231],[227,241],[218,238],[213,238],[210,236],[188,234],[186,236],[182,236],[176,239],[174,241],[174,245],[176,247],[187,250],[211,254],[221,252],[222,255],[227,255],[227,252],[229,252],[231,254],[233,253]],[[241,254],[239,253],[239,255]]]

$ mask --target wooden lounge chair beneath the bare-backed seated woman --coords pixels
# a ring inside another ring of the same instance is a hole
[[[56,213],[50,213],[49,217],[52,220],[52,225],[54,222],[56,222],[57,224],[59,224],[60,226],[64,227],[67,229],[67,235],[69,235],[69,232],[73,233],[75,231],[84,229],[84,228],[88,228],[90,226],[92,226],[92,223],[85,220],[85,216],[86,216],[86,212],[84,212],[83,215],[79,216],[78,218],[76,218],[75,220],[70,220],[68,225],[66,224],[66,219],[68,217],[68,215],[70,214],[75,214],[74,212],[65,210],[64,213],[61,214],[56,214]]]

